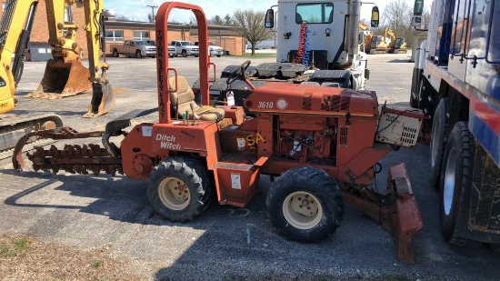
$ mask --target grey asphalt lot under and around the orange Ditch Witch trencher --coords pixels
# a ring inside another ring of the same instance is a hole
[[[407,105],[413,69],[409,56],[369,55],[367,89],[376,91],[380,104]],[[252,64],[274,60],[253,59]],[[233,56],[212,58],[216,75],[225,65],[244,61]],[[108,115],[81,117],[90,92],[54,101],[25,99],[41,81],[43,62],[25,63],[16,92],[19,105],[10,115],[56,113],[65,125],[88,131],[103,130],[108,121],[129,111],[157,106],[155,59],[107,58],[107,62],[116,95],[115,109]],[[195,57],[176,57],[169,67],[190,83],[197,78]],[[137,122],[155,120],[153,114]],[[78,143],[99,144],[100,139]],[[134,260],[136,272],[151,280],[498,280],[499,253],[487,246],[450,246],[441,237],[428,154],[427,146],[391,152],[376,178],[377,186],[385,186],[388,167],[405,162],[425,225],[413,241],[415,265],[399,262],[390,234],[352,206],[346,206],[340,228],[325,241],[287,241],[265,214],[265,192],[271,184],[267,176],[262,176],[261,191],[245,208],[212,204],[194,222],[180,224],[154,215],[145,182],[126,176],[16,172],[11,160],[4,159],[0,162],[0,233],[29,234],[82,249],[107,246],[117,256]]]

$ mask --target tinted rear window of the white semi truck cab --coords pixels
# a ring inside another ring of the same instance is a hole
[[[334,17],[332,3],[297,4],[295,7],[296,24],[331,24]]]

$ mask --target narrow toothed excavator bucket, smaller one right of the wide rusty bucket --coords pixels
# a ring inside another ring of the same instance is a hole
[[[88,105],[85,118],[95,118],[105,115],[115,107],[115,95],[111,85],[106,82],[94,83],[92,85],[92,100]]]

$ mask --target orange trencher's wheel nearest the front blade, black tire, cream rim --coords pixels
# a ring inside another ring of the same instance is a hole
[[[344,215],[344,198],[325,171],[301,166],[279,176],[265,199],[267,215],[287,239],[323,240],[335,232]]]

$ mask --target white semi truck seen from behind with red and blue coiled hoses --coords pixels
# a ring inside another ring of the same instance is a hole
[[[278,0],[277,11],[267,10],[265,27],[276,31],[276,62],[247,68],[246,75],[256,86],[265,80],[283,80],[364,89],[369,78],[367,57],[360,51],[360,1]],[[372,10],[372,27],[378,26],[378,8]],[[225,67],[221,78],[231,75],[237,65]],[[221,79],[223,80],[223,79]],[[194,85],[195,87],[196,85]],[[247,85],[215,81],[211,99],[225,102],[228,95],[241,105],[251,94]]]

